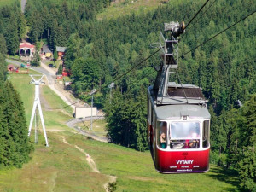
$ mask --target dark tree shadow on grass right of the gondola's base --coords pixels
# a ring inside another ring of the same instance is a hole
[[[226,189],[225,191],[240,191],[239,190],[239,180],[238,180],[238,172],[236,170],[228,170],[224,168],[212,167],[211,172],[207,174],[207,177],[215,178],[221,182],[229,183],[236,187],[236,189]]]

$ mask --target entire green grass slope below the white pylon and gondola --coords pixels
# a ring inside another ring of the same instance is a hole
[[[32,110],[33,85],[30,77],[13,74],[10,80],[20,92],[26,117]],[[0,191],[104,191],[108,175],[117,177],[117,191],[238,191],[233,172],[212,166],[201,174],[160,174],[155,172],[149,152],[141,153],[112,143],[100,143],[75,134],[65,122],[68,111],[49,110],[63,102],[46,86],[42,89],[44,120],[49,148],[42,131],[29,163],[21,169],[0,171]],[[27,119],[29,122],[29,119]],[[64,143],[66,138],[67,143]],[[31,143],[33,137],[30,137]],[[100,173],[92,172],[86,157],[74,146],[83,148],[95,160]]]

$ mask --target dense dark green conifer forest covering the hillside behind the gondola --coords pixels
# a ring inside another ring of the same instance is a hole
[[[156,48],[150,44],[159,41],[165,22],[188,22],[204,1],[169,1],[147,13],[96,20],[97,13],[111,2],[28,0],[26,20],[14,16],[20,14],[18,7],[2,9],[0,34],[10,55],[15,54],[25,34],[26,28],[20,23],[27,24],[33,44],[44,41],[53,50],[66,46],[65,65],[72,72],[73,94],[90,102],[90,90],[100,88],[96,105],[106,113],[113,143],[145,151],[146,90],[154,83],[154,67],[160,65],[158,56],[150,57],[131,73],[121,74],[154,53]],[[256,190],[256,15],[198,49],[189,50],[252,13],[255,6],[253,0],[213,3],[206,15],[183,34],[179,44],[183,57],[178,69],[182,82],[199,85],[209,100],[211,162],[237,170],[241,189],[248,191]],[[16,25],[10,25],[10,20]],[[113,81],[110,97],[108,84]]]

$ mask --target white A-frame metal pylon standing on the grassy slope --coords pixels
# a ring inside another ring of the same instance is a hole
[[[35,79],[35,77],[37,77],[37,76],[41,76],[40,79]],[[46,147],[49,147],[48,140],[47,140],[47,135],[46,135],[46,131],[45,131],[44,117],[43,117],[43,112],[42,112],[40,97],[39,97],[39,84],[44,83],[42,81],[42,79],[44,78],[44,75],[30,75],[30,77],[32,78],[32,81],[30,82],[30,84],[35,84],[35,99],[34,99],[34,104],[33,104],[33,108],[32,108],[32,115],[31,115],[31,119],[30,119],[30,124],[29,124],[29,128],[28,128],[28,136],[30,136],[30,132],[31,132],[31,129],[32,129],[32,122],[33,122],[33,119],[35,117],[36,110],[38,108],[38,113],[39,113],[38,119],[40,117],[41,123],[42,123],[42,126],[43,126]]]

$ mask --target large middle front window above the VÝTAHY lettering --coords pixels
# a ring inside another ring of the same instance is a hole
[[[200,148],[199,122],[172,122],[170,127],[170,147],[173,149]]]

